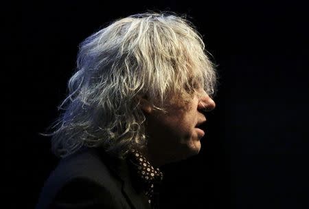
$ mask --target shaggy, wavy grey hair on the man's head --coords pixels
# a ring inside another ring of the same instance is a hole
[[[196,84],[211,96],[216,72],[190,21],[166,13],[119,19],[80,44],[69,96],[51,133],[52,151],[65,157],[83,146],[103,146],[125,157],[147,142],[139,96],[164,111],[173,95],[190,99]]]

